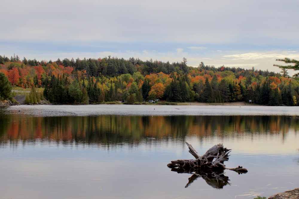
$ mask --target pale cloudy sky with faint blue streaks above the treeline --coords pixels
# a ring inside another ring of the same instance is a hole
[[[112,57],[280,72],[299,59],[298,0],[4,0],[0,55]],[[288,70],[289,75],[295,73]]]

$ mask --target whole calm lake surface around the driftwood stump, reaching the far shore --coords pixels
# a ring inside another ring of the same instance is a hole
[[[41,105],[0,108],[0,198],[254,198],[299,187],[299,107]],[[225,186],[171,171],[215,144]]]

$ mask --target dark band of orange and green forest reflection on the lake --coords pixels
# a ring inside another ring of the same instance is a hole
[[[63,116],[0,114],[0,140],[48,139],[85,144],[135,143],[142,138],[236,137],[299,129],[296,116]]]

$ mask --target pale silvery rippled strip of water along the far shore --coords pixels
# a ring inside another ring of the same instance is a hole
[[[298,115],[299,107],[269,106],[190,106],[190,105],[20,105],[12,113],[33,116],[87,115]]]

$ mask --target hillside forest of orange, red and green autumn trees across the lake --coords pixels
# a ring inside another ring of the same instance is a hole
[[[298,106],[298,78],[243,68],[187,66],[187,59],[170,63],[139,58],[64,58],[37,61],[0,55],[0,100],[11,90],[31,90],[27,104],[46,99],[52,104],[100,104],[125,101],[224,103],[251,100],[269,106]],[[9,85],[8,85],[9,84]],[[40,92],[37,92],[40,91]],[[8,93],[9,92],[9,93]],[[160,103],[159,102],[159,103]]]

